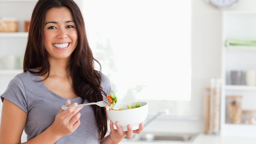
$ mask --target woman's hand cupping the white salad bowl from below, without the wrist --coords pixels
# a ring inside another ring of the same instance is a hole
[[[132,126],[129,124],[127,126],[127,131],[124,132],[119,124],[119,122],[116,122],[116,130],[114,129],[114,124],[112,121],[110,121],[110,138],[111,140],[113,140],[114,142],[118,141],[120,142],[124,136],[127,136],[128,138],[132,138],[133,137],[133,133],[135,134],[140,134],[144,128],[144,123],[140,123],[140,128],[137,130],[132,130]]]

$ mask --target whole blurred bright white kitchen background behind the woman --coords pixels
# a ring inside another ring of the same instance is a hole
[[[255,0],[75,1],[118,100],[149,103],[144,132],[256,137]],[[0,0],[0,94],[22,72],[36,2]]]

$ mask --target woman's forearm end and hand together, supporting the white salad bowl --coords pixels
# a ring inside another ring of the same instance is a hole
[[[140,134],[144,128],[144,124],[140,124],[140,128],[138,130],[132,130],[132,126],[128,125],[127,132],[124,132],[119,124],[119,122],[116,122],[116,130],[114,129],[113,122],[110,122],[110,134],[102,139],[101,144],[118,144],[122,141],[124,136],[127,136],[128,138],[133,137],[133,133]]]

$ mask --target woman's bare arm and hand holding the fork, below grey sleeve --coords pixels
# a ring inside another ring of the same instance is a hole
[[[70,104],[68,100],[66,104]],[[71,134],[80,125],[81,108],[72,104],[67,110],[60,110],[54,122],[44,132],[24,144],[53,144],[62,136]],[[4,99],[0,125],[0,144],[20,144],[27,114],[14,103]]]

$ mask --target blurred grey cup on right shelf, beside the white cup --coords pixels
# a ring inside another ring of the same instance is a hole
[[[245,84],[245,73],[242,70],[232,70],[230,72],[230,80],[232,85],[244,85]]]

